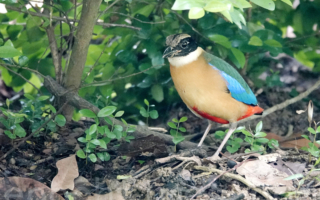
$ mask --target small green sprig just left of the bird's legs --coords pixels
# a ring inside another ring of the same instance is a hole
[[[182,127],[180,123],[185,122],[187,120],[187,117],[181,117],[179,120],[173,118],[172,122],[168,122],[168,126],[171,128],[170,135],[173,137],[172,142],[175,145],[179,144],[185,139],[181,133],[185,133],[187,130],[186,128]]]

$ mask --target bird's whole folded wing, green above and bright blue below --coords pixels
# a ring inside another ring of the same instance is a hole
[[[256,96],[237,70],[224,60],[207,52],[204,52],[204,57],[213,68],[220,71],[234,99],[249,105],[258,104]]]

